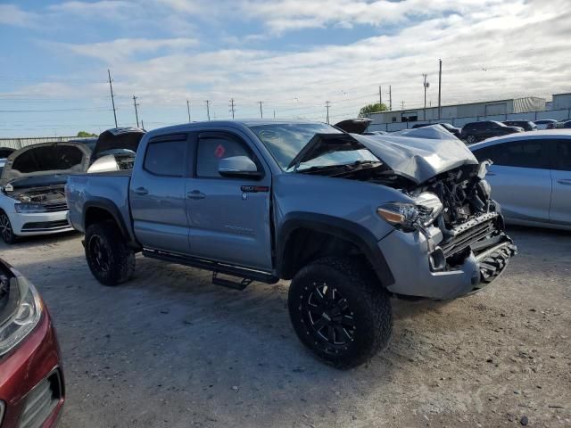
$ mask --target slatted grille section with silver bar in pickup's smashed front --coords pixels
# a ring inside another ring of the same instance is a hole
[[[496,230],[497,213],[484,214],[474,218],[451,230],[451,237],[441,244],[444,257],[448,258],[454,254],[466,250],[470,245],[481,241],[488,235],[492,235]]]

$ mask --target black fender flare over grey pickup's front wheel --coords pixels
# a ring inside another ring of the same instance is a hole
[[[299,228],[334,235],[353,243],[368,259],[381,284],[384,287],[394,284],[393,273],[386,262],[383,251],[377,245],[377,238],[365,226],[344,218],[310,212],[288,213],[277,232],[276,270],[280,278],[287,276],[285,271],[288,267],[284,266],[284,260],[288,240]]]

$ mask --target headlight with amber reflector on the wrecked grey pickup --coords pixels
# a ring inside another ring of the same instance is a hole
[[[413,201],[385,203],[377,208],[377,214],[404,232],[412,232],[417,226],[429,226],[443,210],[442,202],[434,193],[420,193]]]

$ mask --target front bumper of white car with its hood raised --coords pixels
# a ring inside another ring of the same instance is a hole
[[[68,211],[21,213],[9,215],[15,235],[51,235],[73,230],[68,220]]]

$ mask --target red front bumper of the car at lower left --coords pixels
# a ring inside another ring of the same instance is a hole
[[[54,325],[44,307],[39,324],[0,359],[2,428],[52,428],[61,417],[64,387]]]

